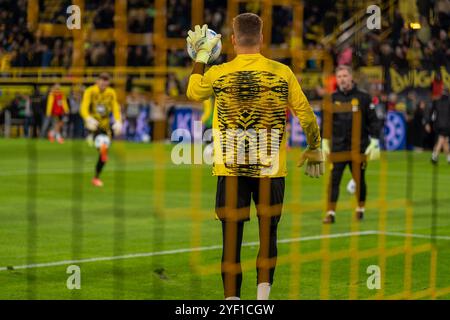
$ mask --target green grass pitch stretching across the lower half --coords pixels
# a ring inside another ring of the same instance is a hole
[[[97,155],[84,141],[57,145],[1,139],[0,299],[222,299],[221,228],[213,212],[216,179],[207,165],[172,164],[170,152],[166,144],[116,142],[102,176],[105,186],[96,189],[90,179]],[[408,285],[413,293],[426,290],[430,278],[437,290],[450,287],[450,165],[444,158],[436,169],[434,187],[429,153],[384,153],[384,165],[370,163],[369,204],[366,219],[359,224],[353,220],[353,196],[345,191],[347,170],[337,223],[326,229],[321,224],[326,180],[308,178],[295,167],[299,152],[294,148],[288,155],[286,207],[279,227],[279,239],[286,241],[278,246],[272,299],[319,299],[324,292],[329,299],[348,299],[351,292],[358,299],[376,297],[379,291],[367,288],[366,269],[377,265],[379,256],[355,257],[380,245],[383,216],[386,249],[401,248],[408,241],[417,247],[430,243],[432,232],[438,236],[435,276],[430,276],[429,251],[408,260],[405,247],[384,260],[385,297],[403,292]],[[408,197],[412,220],[406,219],[408,206],[401,205]],[[383,198],[386,206],[380,201]],[[305,208],[300,214],[299,207]],[[331,236],[328,242],[324,232]],[[366,233],[352,236],[350,232]],[[302,241],[294,239],[298,237]],[[251,242],[257,240],[252,208],[252,220],[244,231],[248,244],[242,250],[243,299],[256,297],[258,247]],[[328,264],[321,258],[301,264],[289,258],[318,252],[324,243],[331,253],[353,251],[350,257]],[[194,247],[202,250],[193,251]],[[117,256],[125,257],[111,258]],[[53,266],[10,267],[53,262]],[[79,290],[66,287],[70,264],[81,268]],[[321,281],[325,267],[329,278]],[[410,282],[405,282],[405,274],[411,275]],[[438,298],[449,299],[450,294]]]

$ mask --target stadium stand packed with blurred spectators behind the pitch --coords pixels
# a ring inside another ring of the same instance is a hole
[[[418,123],[418,119],[413,121],[414,115],[428,116],[431,97],[419,92],[414,95],[412,101],[408,94],[392,92],[390,70],[394,69],[401,74],[412,69],[449,69],[448,1],[436,1],[434,6],[427,5],[427,1],[418,1],[417,6],[408,5],[408,1],[390,1],[389,5],[383,7],[383,12],[389,19],[383,20],[382,30],[375,32],[367,32],[361,22],[366,16],[365,8],[369,2],[360,1],[353,4],[322,0],[314,3],[293,1],[291,4],[277,4],[274,1],[270,10],[264,9],[263,12],[263,7],[255,2],[238,3],[225,0],[134,0],[125,5],[123,2],[121,5],[111,0],[86,3],[81,1],[80,4],[85,8],[83,28],[90,32],[84,35],[84,38],[79,38],[79,35],[68,32],[63,26],[67,18],[65,8],[70,1],[4,0],[0,2],[0,6],[8,10],[2,10],[0,17],[0,67],[4,72],[2,79],[4,82],[24,83],[28,77],[36,75],[32,73],[32,69],[26,68],[41,67],[43,73],[46,73],[45,68],[49,68],[47,75],[63,77],[63,82],[64,77],[67,77],[67,82],[63,85],[69,91],[71,80],[68,79],[71,79],[74,72],[82,76],[78,81],[86,83],[92,81],[85,73],[89,68],[111,67],[113,73],[117,74],[114,82],[119,98],[125,103],[128,92],[135,86],[146,90],[148,99],[164,94],[167,77],[157,75],[155,69],[148,69],[148,73],[144,75],[142,68],[166,65],[168,69],[162,69],[163,73],[173,71],[178,88],[176,91],[172,90],[168,96],[183,100],[188,71],[180,70],[190,65],[190,59],[184,49],[185,31],[191,24],[201,20],[221,32],[225,38],[230,32],[226,28],[227,19],[233,14],[233,10],[250,10],[272,17],[267,26],[270,30],[265,30],[271,39],[266,53],[275,58],[278,56],[280,61],[292,65],[303,78],[304,90],[310,99],[322,99],[327,81],[332,81],[327,78],[327,74],[334,66],[349,64],[361,73],[367,72],[376,78],[364,85],[377,97],[380,108],[385,111],[405,112],[408,124],[414,121]],[[198,10],[192,10],[193,6],[199,5],[204,7],[203,16],[196,13]],[[334,6],[337,10],[330,10]],[[167,9],[167,15],[164,17],[157,14],[158,9],[163,7]],[[39,15],[37,21],[33,21],[36,18],[29,16],[29,13],[37,8]],[[119,10],[121,12],[118,12]],[[295,14],[304,17],[300,25],[294,23]],[[114,18],[114,15],[121,19]],[[117,25],[114,25],[114,21],[117,21]],[[413,22],[419,22],[421,28],[412,29]],[[114,32],[120,28],[123,32]],[[301,37],[295,34],[296,30],[300,30]],[[357,33],[356,30],[362,32]],[[114,34],[113,39],[109,37],[111,32]],[[85,44],[81,48],[77,44],[83,40]],[[161,41],[163,45],[155,49],[155,43]],[[224,54],[217,63],[231,57],[227,41],[224,46]],[[299,50],[294,50],[296,48]],[[302,49],[304,51],[301,51]],[[52,67],[63,69],[53,73]],[[86,69],[76,71],[78,67]],[[118,69],[114,67],[136,68],[137,72],[128,68],[123,69],[124,72],[119,75]],[[181,69],[169,71],[170,68]],[[382,73],[381,78],[379,70]],[[20,72],[17,73],[18,71]],[[25,76],[21,72],[28,74]],[[125,82],[122,80],[123,76],[126,78]],[[38,78],[39,81],[45,82],[39,75]],[[439,88],[440,81],[442,82],[442,79],[433,79],[435,91],[438,90],[436,88]],[[23,86],[11,88],[14,92],[4,94],[0,98],[2,109],[11,107],[16,99],[15,92],[20,94],[23,91]],[[43,89],[41,91],[45,91],[45,87]],[[30,87],[27,87],[26,91],[30,92]],[[407,110],[405,105],[408,106]],[[424,105],[425,111],[419,112]],[[423,126],[420,130],[424,131]],[[427,134],[423,132],[419,136]],[[431,141],[432,138],[425,140]],[[417,144],[416,141],[415,145]],[[430,143],[424,142],[421,147],[430,147]]]

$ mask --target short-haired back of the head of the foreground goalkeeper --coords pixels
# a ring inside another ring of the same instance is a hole
[[[236,43],[242,47],[254,47],[259,44],[262,33],[262,19],[254,13],[241,13],[233,19],[233,31]]]

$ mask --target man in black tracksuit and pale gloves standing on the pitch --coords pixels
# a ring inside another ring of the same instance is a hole
[[[339,187],[347,165],[356,182],[358,207],[356,216],[363,219],[367,185],[365,170],[367,160],[379,158],[380,121],[371,108],[371,97],[353,83],[352,69],[336,69],[337,91],[332,95],[332,106],[325,111],[323,144],[325,156],[332,163],[328,190],[328,208],[324,223],[334,223]],[[331,123],[330,123],[331,122]]]

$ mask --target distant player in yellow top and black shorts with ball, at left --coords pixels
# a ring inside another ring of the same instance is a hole
[[[84,92],[80,108],[81,117],[86,128],[93,135],[94,145],[99,151],[95,176],[92,179],[92,184],[96,187],[103,186],[100,173],[108,161],[108,149],[111,145],[111,113],[114,117],[114,123],[112,124],[114,135],[120,135],[122,131],[120,105],[117,101],[116,91],[109,87],[109,82],[109,74],[100,74],[96,84],[90,86]]]

